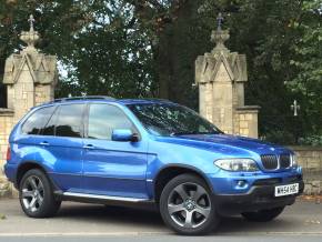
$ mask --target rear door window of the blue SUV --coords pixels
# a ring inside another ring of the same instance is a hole
[[[81,138],[83,104],[60,105],[42,131],[43,135]]]

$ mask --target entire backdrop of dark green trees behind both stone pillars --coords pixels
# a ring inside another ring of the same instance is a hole
[[[161,97],[198,109],[194,60],[224,13],[232,51],[248,57],[246,103],[262,138],[322,135],[322,0],[1,0],[0,75],[30,13],[39,48],[57,54],[57,95]],[[0,87],[1,88],[1,87]],[[300,115],[290,109],[301,104]],[[1,102],[1,101],[0,101]]]

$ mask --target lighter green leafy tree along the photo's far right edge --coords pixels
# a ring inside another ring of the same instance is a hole
[[[301,13],[292,24],[301,38],[292,49],[295,56],[290,63],[296,74],[288,87],[302,97],[306,135],[322,140],[322,1],[303,1]]]

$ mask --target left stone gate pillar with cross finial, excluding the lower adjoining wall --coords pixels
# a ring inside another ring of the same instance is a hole
[[[3,84],[8,87],[8,108],[14,111],[14,122],[30,108],[52,100],[58,80],[57,58],[36,49],[40,36],[33,30],[33,18],[29,21],[30,31],[22,31],[20,36],[27,47],[6,61]]]

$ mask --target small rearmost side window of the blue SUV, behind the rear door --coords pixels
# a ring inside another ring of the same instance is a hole
[[[23,134],[39,134],[40,130],[43,129],[56,107],[48,107],[37,110],[22,125]]]

